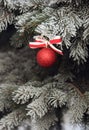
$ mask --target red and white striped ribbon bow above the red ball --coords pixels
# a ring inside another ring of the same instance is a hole
[[[60,36],[56,36],[51,40],[46,40],[44,37],[42,36],[35,36],[34,37],[35,42],[30,42],[29,43],[29,47],[32,49],[36,49],[36,48],[42,48],[42,47],[47,47],[50,46],[50,48],[52,48],[55,52],[57,52],[60,55],[63,55],[63,52],[60,49],[57,49],[53,44],[62,44],[62,38]]]

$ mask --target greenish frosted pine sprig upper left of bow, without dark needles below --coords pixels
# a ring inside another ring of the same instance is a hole
[[[39,11],[27,12],[16,18],[16,28],[19,32],[29,31],[30,29],[32,31],[47,18],[48,15],[46,13],[40,13]]]

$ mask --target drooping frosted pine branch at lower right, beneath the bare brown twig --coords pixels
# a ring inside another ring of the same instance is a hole
[[[69,83],[69,87],[71,88],[68,92],[68,108],[69,113],[71,115],[71,123],[81,123],[84,113],[86,113],[89,104],[88,97],[85,96],[76,86]]]

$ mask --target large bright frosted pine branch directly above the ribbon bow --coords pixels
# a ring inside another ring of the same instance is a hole
[[[54,10],[51,18],[38,25],[36,31],[49,39],[61,34],[63,38],[70,40],[71,37],[76,36],[77,29],[82,26],[82,23],[83,21],[71,11],[70,7],[62,8]],[[67,43],[66,46],[69,46]]]

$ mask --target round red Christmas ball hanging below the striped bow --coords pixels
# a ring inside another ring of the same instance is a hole
[[[43,48],[37,53],[37,63],[42,67],[51,67],[57,59],[56,53],[51,48]]]

